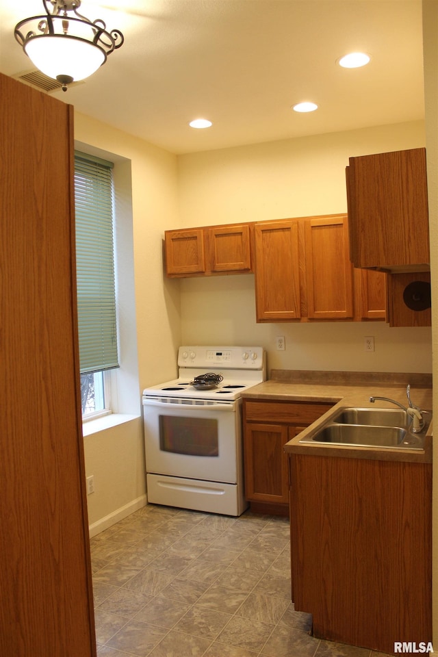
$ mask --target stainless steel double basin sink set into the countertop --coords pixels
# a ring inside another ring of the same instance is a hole
[[[422,411],[422,428],[413,433],[413,418],[402,409],[337,409],[300,443],[331,443],[354,447],[422,450],[424,436],[432,420],[430,411]]]

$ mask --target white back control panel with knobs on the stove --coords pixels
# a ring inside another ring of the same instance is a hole
[[[265,353],[263,347],[182,346],[178,350],[180,368],[212,366],[230,370],[262,370]]]

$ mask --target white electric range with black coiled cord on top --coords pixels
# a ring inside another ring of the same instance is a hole
[[[178,365],[177,379],[143,391],[148,500],[241,515],[248,506],[241,394],[265,381],[266,353],[250,346],[181,346]]]

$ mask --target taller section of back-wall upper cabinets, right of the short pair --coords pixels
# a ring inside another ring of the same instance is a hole
[[[385,320],[386,274],[353,270],[345,214],[257,222],[254,239],[257,322]]]

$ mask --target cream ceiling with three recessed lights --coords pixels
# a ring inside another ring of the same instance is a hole
[[[421,0],[82,0],[123,47],[92,77],[51,92],[172,153],[424,118]],[[0,71],[33,69],[14,25],[40,0],[0,0]],[[341,68],[352,51],[368,66]],[[292,111],[314,101],[310,114]],[[196,130],[193,118],[213,126]]]

